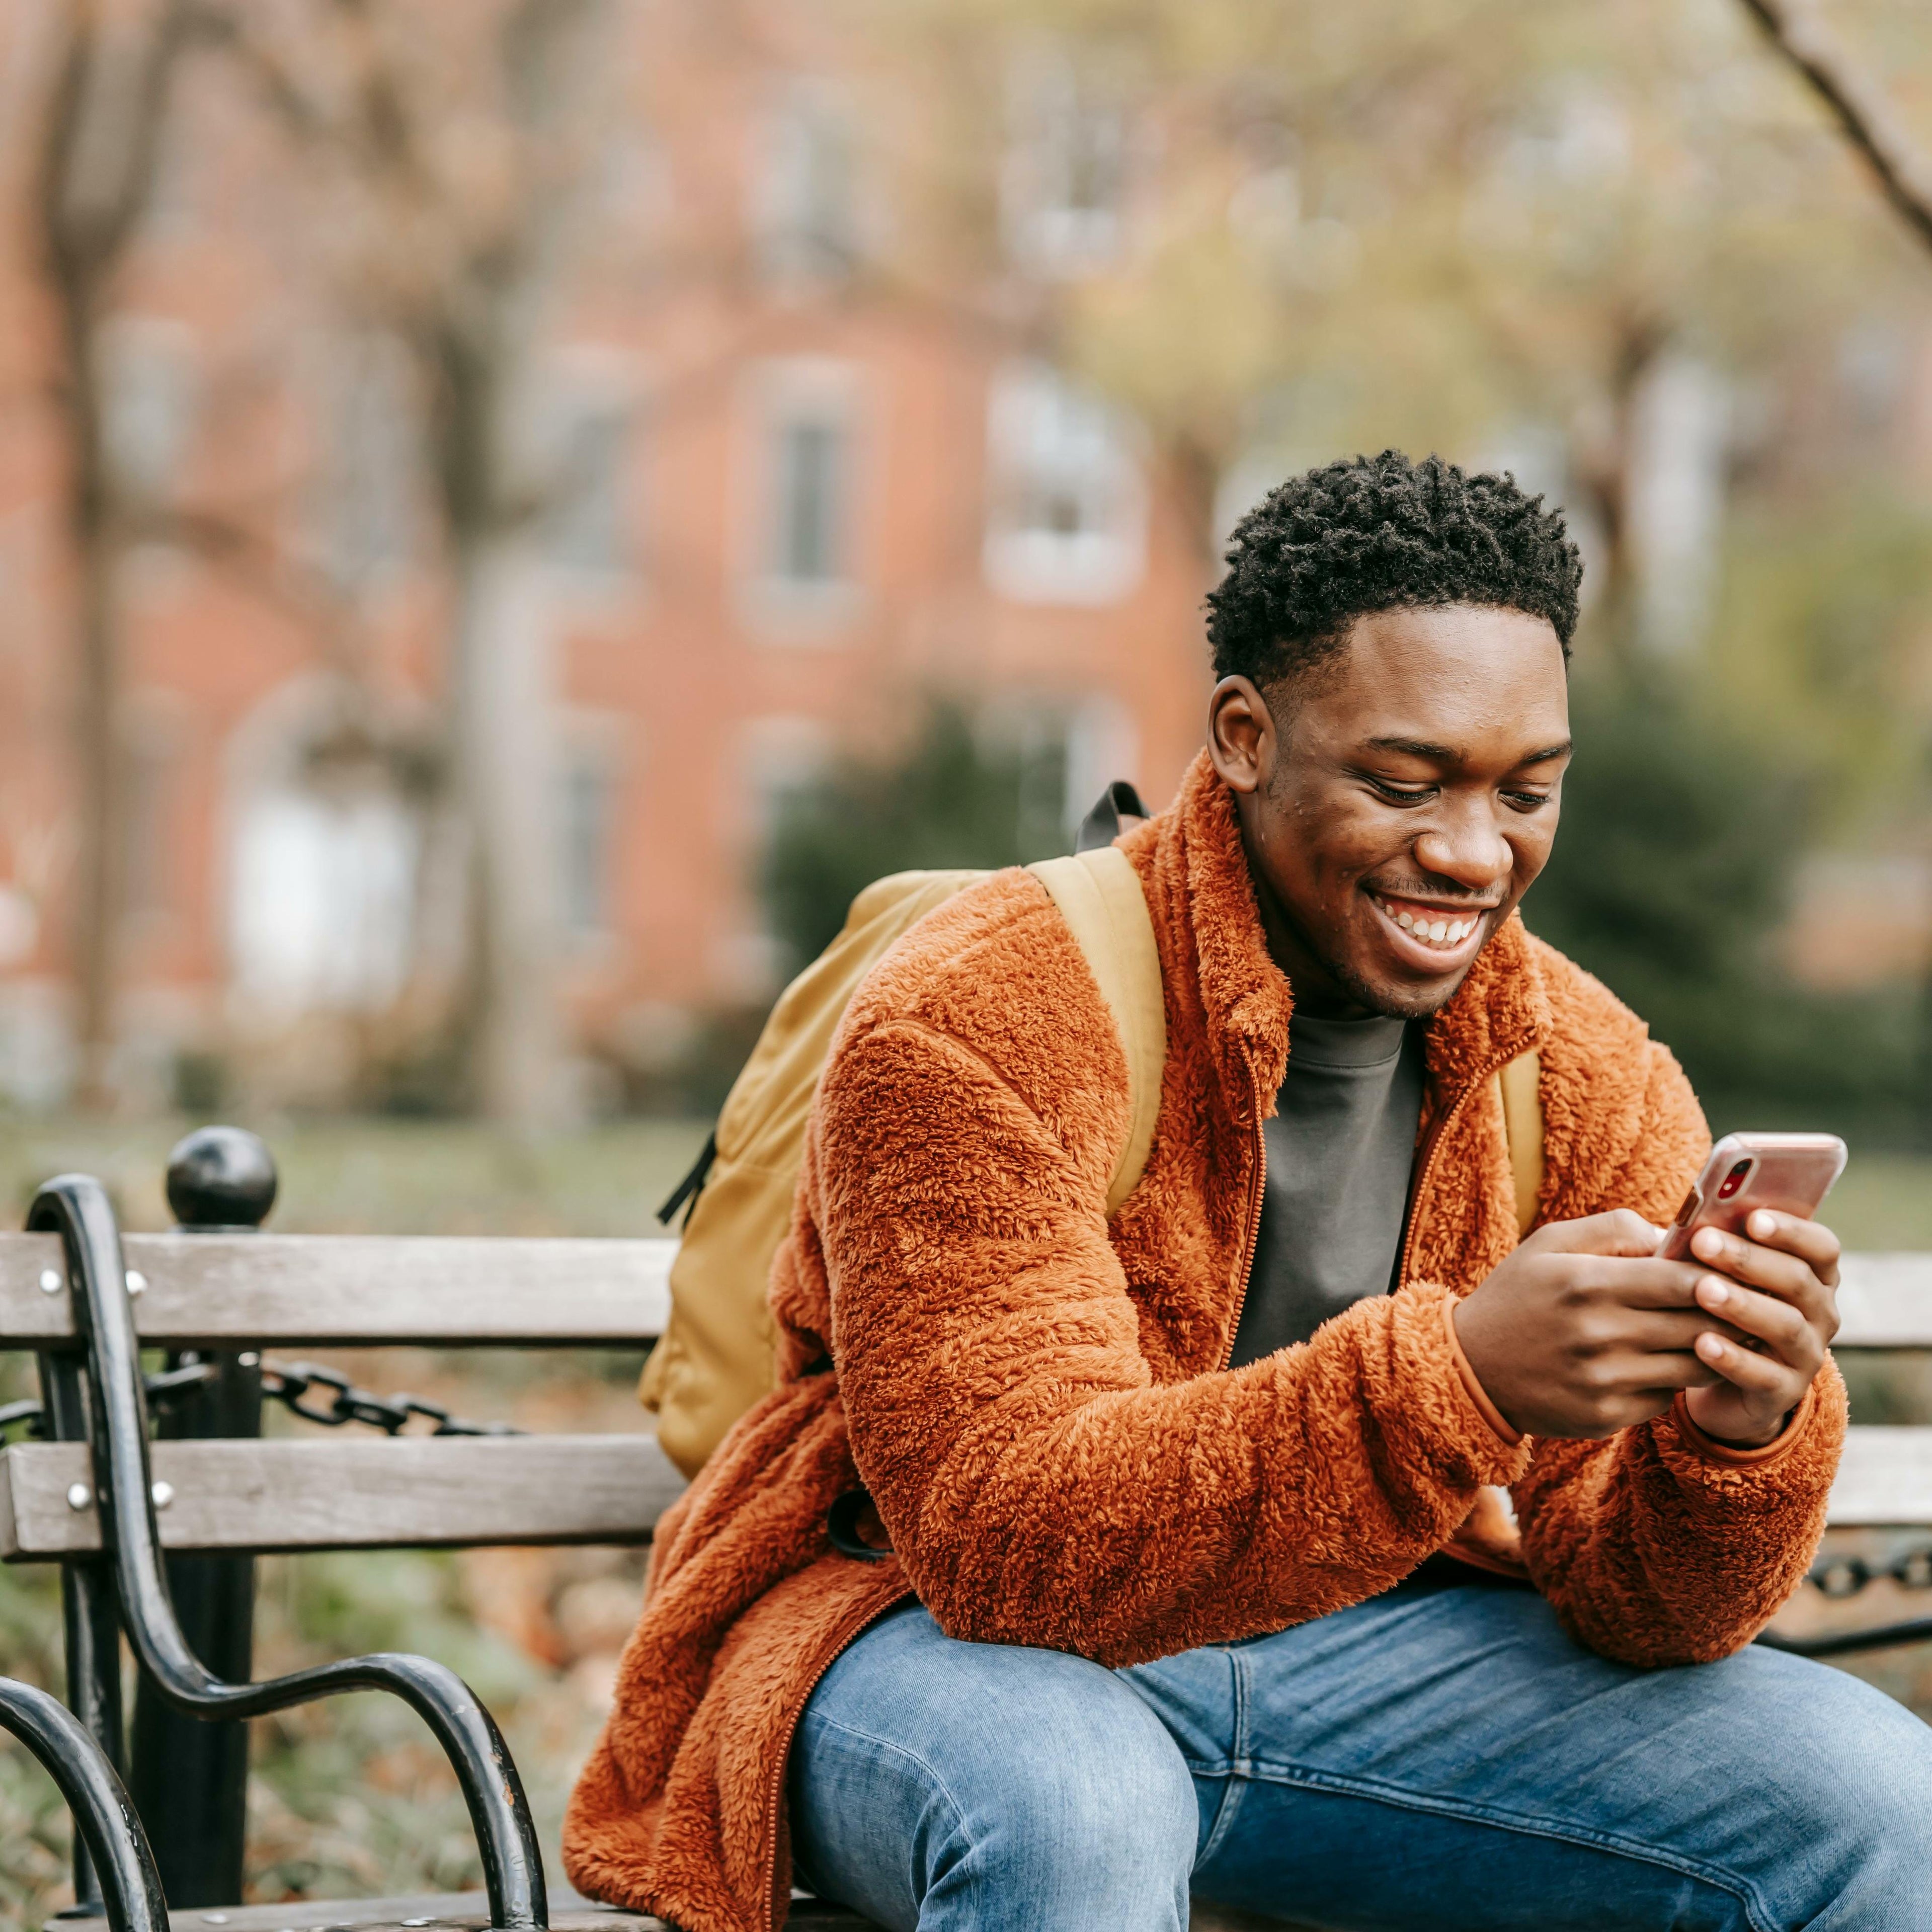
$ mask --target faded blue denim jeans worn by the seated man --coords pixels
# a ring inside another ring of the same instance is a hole
[[[893,1932],[1922,1932],[1932,1731],[1822,1663],[1634,1671],[1528,1590],[1403,1584],[1109,1671],[916,1604],[792,1754],[802,1880]]]

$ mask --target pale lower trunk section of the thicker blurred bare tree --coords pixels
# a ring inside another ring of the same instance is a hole
[[[529,535],[460,537],[456,595],[454,781],[471,837],[462,1032],[481,1113],[527,1132],[564,1113],[553,636]]]

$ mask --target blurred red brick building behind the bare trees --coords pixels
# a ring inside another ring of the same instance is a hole
[[[1030,290],[1115,243],[1109,110],[1051,75],[1020,100],[997,286],[914,294],[873,265],[875,77],[790,10],[638,17],[647,106],[639,81],[545,361],[566,487],[522,620],[554,703],[568,1034],[649,1072],[773,989],[753,875],[788,786],[954,694],[1063,815],[1113,777],[1159,800],[1206,657],[1198,539],[1132,427],[1028,346]],[[425,920],[410,748],[446,587],[406,371],[317,301],[288,168],[197,62],[106,336],[116,468],[168,512],[118,572],[135,1099],[216,1059],[342,1097]],[[0,315],[0,1095],[44,1105],[73,1070],[75,583],[19,220]],[[224,520],[253,547],[195,539]]]

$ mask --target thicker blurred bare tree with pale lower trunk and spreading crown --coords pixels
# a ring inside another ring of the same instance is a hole
[[[558,1066],[553,676],[533,553],[568,479],[531,433],[533,384],[595,155],[607,12],[307,0],[274,19],[236,8],[222,29],[336,197],[350,236],[328,263],[336,298],[390,330],[417,375],[452,585],[450,810],[431,852],[454,854],[468,887],[458,1045],[483,1111],[516,1124],[551,1111]],[[462,41],[439,46],[452,17]]]

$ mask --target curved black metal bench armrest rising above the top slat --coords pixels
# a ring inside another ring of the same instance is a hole
[[[524,1781],[497,1721],[475,1692],[429,1658],[381,1652],[294,1671],[270,1683],[224,1683],[193,1654],[168,1594],[155,1522],[141,1343],[128,1298],[120,1229],[89,1175],[48,1180],[27,1211],[31,1231],[62,1236],[75,1321],[87,1343],[89,1447],[100,1540],[112,1555],[122,1629],[143,1673],[176,1710],[203,1718],[265,1718],[342,1690],[388,1690],[429,1725],[456,1772],[483,1857],[491,1926],[549,1926],[543,1855]]]

